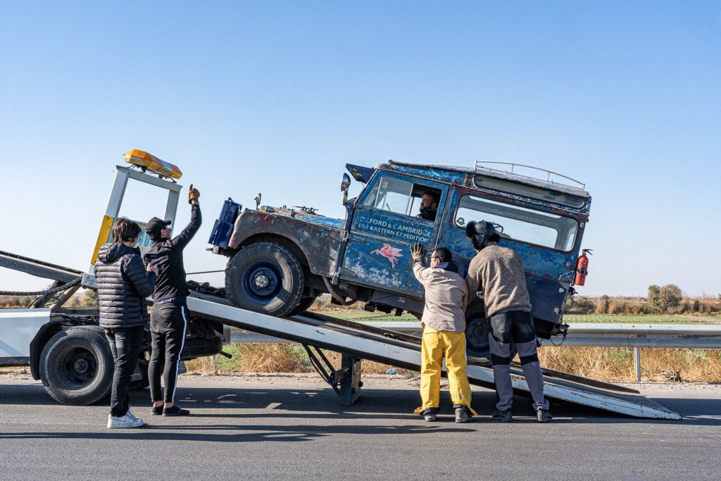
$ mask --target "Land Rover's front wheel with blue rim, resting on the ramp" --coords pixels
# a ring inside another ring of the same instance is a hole
[[[298,306],[305,276],[293,252],[275,242],[244,247],[228,261],[228,299],[242,309],[271,316],[288,315]]]

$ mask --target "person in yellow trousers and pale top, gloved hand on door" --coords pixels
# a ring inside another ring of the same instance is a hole
[[[471,407],[471,387],[466,375],[466,281],[452,262],[451,251],[438,247],[423,267],[423,246],[412,248],[413,273],[425,289],[423,343],[421,344],[420,397],[415,410],[426,421],[435,421],[441,393],[441,366],[446,358],[448,387],[454,403],[456,423],[465,423],[476,412]]]

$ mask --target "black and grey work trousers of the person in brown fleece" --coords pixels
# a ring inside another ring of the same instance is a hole
[[[534,400],[534,410],[547,410],[549,403],[543,395],[543,374],[536,350],[536,326],[531,313],[506,311],[492,315],[488,340],[498,394],[496,408],[500,411],[508,410],[513,404],[513,384],[510,382],[510,343],[513,342]]]

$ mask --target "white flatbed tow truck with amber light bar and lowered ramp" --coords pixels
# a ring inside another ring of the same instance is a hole
[[[171,177],[166,172],[162,174]],[[118,166],[97,247],[109,239],[129,180],[167,190],[164,219],[174,220],[182,186],[174,180],[151,175],[145,168]],[[143,243],[142,239],[139,241]],[[94,287],[92,265],[89,272],[84,273],[0,251],[0,267],[53,281],[44,291],[22,293],[35,295],[29,308],[0,309],[0,364],[30,364],[33,379],[41,380],[48,394],[63,404],[89,405],[107,397],[112,383],[112,355],[105,335],[97,325],[97,309],[64,306],[81,286]],[[224,354],[222,345],[230,340],[230,327],[290,340],[304,346],[312,365],[335,390],[342,405],[353,404],[361,395],[363,359],[420,370],[420,337],[315,312],[286,317],[252,312],[234,306],[222,289],[200,288],[191,292],[187,304],[191,332],[195,337],[187,340],[182,359]],[[323,350],[341,353],[341,366],[332,366]],[[148,359],[149,347],[146,345],[133,375],[136,389],[147,386]],[[521,366],[514,364],[512,368],[515,392],[528,395]],[[467,373],[472,384],[494,389],[490,363],[472,358]],[[681,419],[678,413],[628,387],[550,369],[544,369],[544,381],[545,394],[553,400],[637,418]]]

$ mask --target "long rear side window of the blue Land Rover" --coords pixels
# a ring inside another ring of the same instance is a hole
[[[464,228],[470,221],[487,221],[502,226],[501,237],[505,239],[566,252],[572,250],[578,231],[578,221],[570,217],[464,195],[456,209],[454,223]]]

